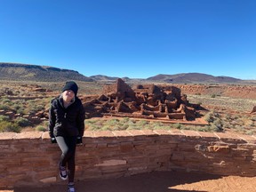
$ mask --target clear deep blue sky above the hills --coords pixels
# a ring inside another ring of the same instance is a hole
[[[256,79],[255,0],[0,0],[0,62]]]

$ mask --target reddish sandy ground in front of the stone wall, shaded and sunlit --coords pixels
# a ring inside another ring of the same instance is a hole
[[[1,190],[0,190],[1,191]],[[62,192],[62,185],[14,188],[1,192]],[[76,192],[255,192],[256,178],[199,173],[152,172],[131,177],[76,182]]]

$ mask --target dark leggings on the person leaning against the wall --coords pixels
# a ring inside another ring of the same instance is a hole
[[[56,137],[57,143],[62,151],[60,165],[68,164],[68,182],[74,182],[75,178],[75,155],[76,155],[76,136],[75,137]]]

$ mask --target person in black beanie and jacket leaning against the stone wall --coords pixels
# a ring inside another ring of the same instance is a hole
[[[68,180],[68,192],[75,192],[76,144],[82,143],[84,135],[84,107],[76,97],[77,91],[75,82],[67,82],[60,97],[52,100],[49,110],[48,130],[52,143],[57,142],[62,151],[59,162],[60,179]]]

